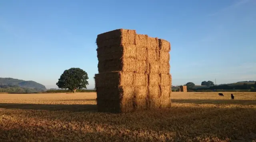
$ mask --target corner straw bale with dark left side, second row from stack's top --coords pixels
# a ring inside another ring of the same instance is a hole
[[[96,51],[99,61],[120,58],[137,58],[136,45],[120,45],[116,47],[106,47],[96,49]]]

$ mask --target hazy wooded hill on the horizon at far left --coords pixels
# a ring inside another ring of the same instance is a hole
[[[34,81],[18,80],[14,78],[0,78],[0,88],[28,88],[34,90],[44,90],[46,87]]]

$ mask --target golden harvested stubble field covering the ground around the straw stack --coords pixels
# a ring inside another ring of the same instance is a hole
[[[255,142],[256,93],[172,92],[172,108],[96,112],[96,93],[0,94],[1,142]]]

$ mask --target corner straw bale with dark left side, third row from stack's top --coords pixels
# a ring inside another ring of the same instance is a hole
[[[122,58],[114,60],[103,60],[98,62],[98,72],[136,72],[137,64],[136,60],[132,58]]]

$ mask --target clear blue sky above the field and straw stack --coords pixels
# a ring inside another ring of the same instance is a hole
[[[170,41],[172,84],[256,80],[255,0],[1,0],[0,77],[55,85],[79,67],[94,87],[96,38],[136,29]]]

